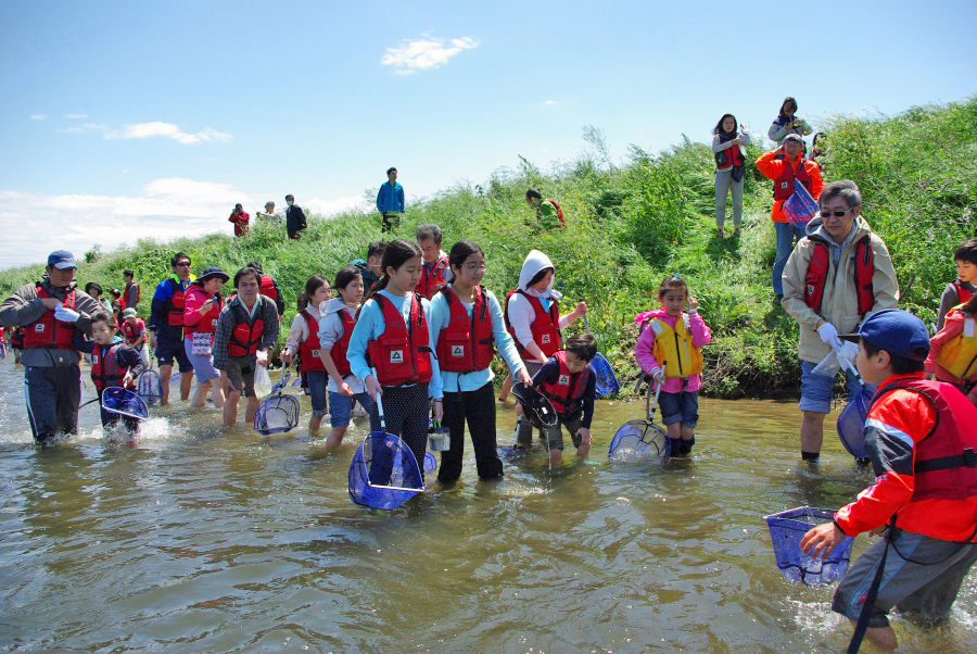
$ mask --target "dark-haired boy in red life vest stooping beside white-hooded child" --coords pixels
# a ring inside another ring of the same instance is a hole
[[[543,430],[550,458],[563,454],[562,427],[567,428],[578,456],[591,451],[591,422],[597,398],[597,376],[591,362],[597,355],[597,342],[589,334],[567,339],[567,349],[555,353],[533,376],[533,386],[546,395],[559,422]],[[516,442],[529,444],[533,431],[528,422],[519,424]]]

